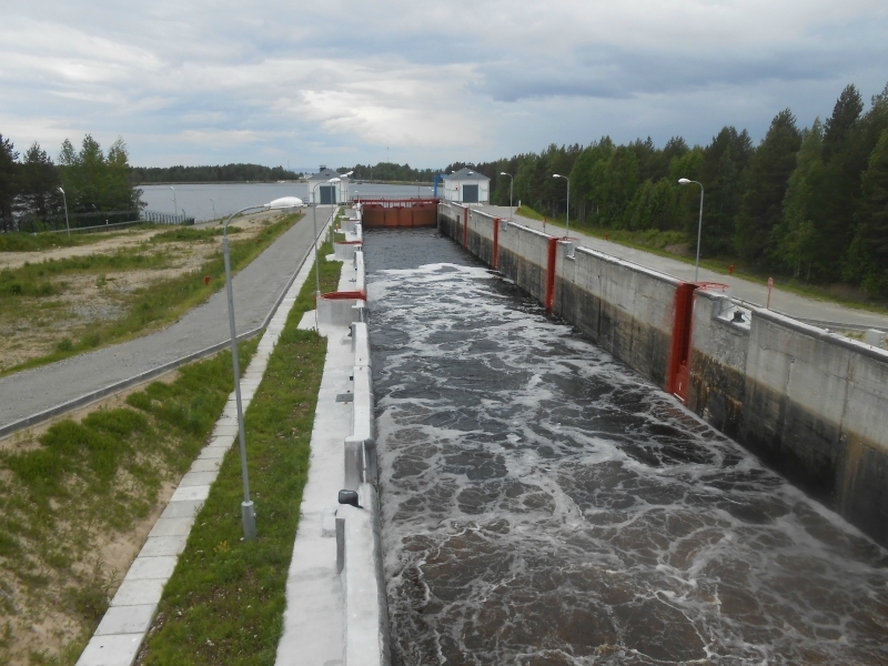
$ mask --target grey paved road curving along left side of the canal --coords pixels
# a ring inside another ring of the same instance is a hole
[[[330,211],[329,206],[321,208],[319,228],[324,225]],[[239,335],[255,331],[265,323],[311,250],[313,233],[309,213],[234,276]],[[110,393],[128,383],[149,379],[152,373],[174,366],[203,350],[224,345],[228,340],[228,306],[223,287],[206,303],[162,331],[2,377],[0,435],[18,430],[16,424],[23,420],[52,410],[62,413],[79,406],[84,396],[100,397],[102,391]]]

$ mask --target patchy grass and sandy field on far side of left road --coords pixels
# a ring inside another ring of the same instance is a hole
[[[300,216],[229,229],[232,270]],[[224,285],[221,233],[178,228],[137,246],[0,271],[0,375],[144,335],[205,302]]]

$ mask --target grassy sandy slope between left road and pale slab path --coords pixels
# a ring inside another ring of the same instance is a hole
[[[242,367],[258,344],[240,345]],[[0,581],[14,581],[17,591],[0,583],[2,615],[23,623],[21,633],[48,612],[81,629],[31,663],[77,660],[121,576],[98,557],[97,543],[148,517],[163,482],[181,478],[201,450],[232,389],[231,354],[223,352],[183,366],[170,384],[130,394],[127,406],[61,421],[37,442],[0,453],[12,478],[0,483]],[[0,664],[16,652],[12,638],[0,640]]]

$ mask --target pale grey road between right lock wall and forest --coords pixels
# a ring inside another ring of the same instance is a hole
[[[483,205],[480,209],[492,215],[508,218],[509,216],[509,209],[508,206],[502,205]],[[538,229],[543,230],[543,223],[537,222],[536,220],[531,220],[529,218],[523,218],[521,215],[515,215],[515,221],[529,226],[531,229]],[[546,232],[555,235],[564,234],[563,226],[555,226],[552,224],[546,225]],[[595,236],[589,236],[583,233],[577,233],[573,229],[571,230],[571,235],[574,238],[579,239],[579,244],[586,248],[591,248],[593,250],[597,250],[599,252],[604,252],[606,254],[610,254],[612,256],[616,256],[618,259],[623,259],[626,261],[630,261],[633,263],[647,266],[649,269],[654,269],[656,271],[660,271],[663,273],[667,273],[668,275],[674,275],[675,278],[679,278],[682,280],[694,280],[694,265],[685,263],[683,261],[678,261],[675,259],[669,259],[667,256],[659,256],[658,254],[652,254],[649,252],[644,252],[643,250],[635,250],[633,248],[626,248],[625,245],[620,245],[618,243],[612,243],[609,241],[604,241],[602,239],[597,239]],[[743,280],[741,278],[736,278],[733,275],[723,275],[722,273],[715,273],[713,271],[707,271],[706,269],[700,269],[700,281],[703,282],[720,282],[722,284],[728,284],[731,289],[731,294],[744,301],[748,301],[749,303],[754,303],[756,305],[765,306],[765,303],[768,299],[768,287],[764,284],[758,284],[755,282],[749,282],[748,280]],[[842,323],[842,324],[852,324],[855,326],[867,326],[874,329],[881,329],[888,331],[888,316],[884,314],[878,314],[875,312],[867,312],[865,310],[854,310],[851,307],[845,307],[839,305],[838,303],[830,303],[828,301],[818,301],[815,299],[808,299],[805,296],[799,296],[789,292],[781,291],[779,289],[775,289],[771,292],[770,296],[770,307],[771,310],[776,310],[783,314],[788,314],[795,319],[799,319],[803,321],[808,322],[829,322],[829,323]],[[826,325],[829,325],[828,323]]]

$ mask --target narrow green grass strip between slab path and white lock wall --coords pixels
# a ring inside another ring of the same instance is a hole
[[[322,258],[322,291],[334,291],[341,264]],[[254,543],[241,541],[240,458],[225,456],[184,553],[163,591],[141,664],[274,664],[286,605],[286,573],[326,341],[296,329],[314,307],[307,280],[245,415]]]

